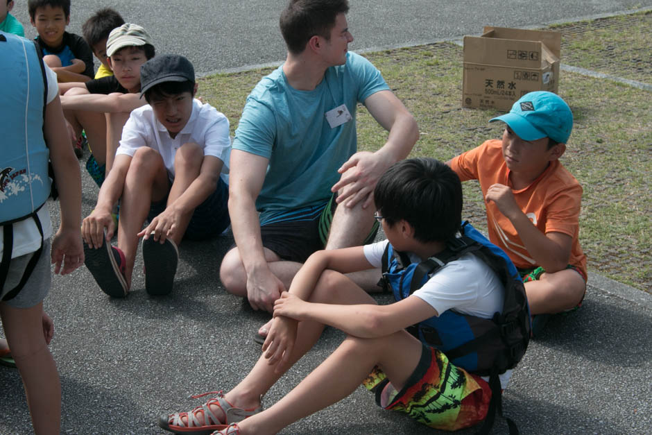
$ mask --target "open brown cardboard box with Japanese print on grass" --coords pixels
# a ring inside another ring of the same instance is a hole
[[[557,92],[561,33],[484,28],[464,37],[462,106],[510,110],[532,91]]]

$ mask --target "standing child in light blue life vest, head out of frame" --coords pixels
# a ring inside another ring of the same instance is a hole
[[[57,77],[35,44],[0,32],[0,317],[27,394],[34,432],[58,434],[61,386],[47,347],[52,323],[43,312],[50,264],[65,275],[84,262],[81,178],[69,146]],[[61,224],[52,237],[45,204],[51,160]]]

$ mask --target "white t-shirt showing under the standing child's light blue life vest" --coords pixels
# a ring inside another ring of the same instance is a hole
[[[48,80],[48,99],[47,103],[51,103],[55,96],[59,93],[59,86],[57,84],[57,75],[47,65],[45,65],[45,75]],[[41,90],[42,92],[42,90]],[[43,207],[37,212],[37,216],[41,221],[43,228],[43,239],[48,239],[52,235],[52,222],[50,221],[50,212],[48,205],[44,204]],[[2,228],[0,226],[0,228]],[[16,222],[13,226],[14,229],[14,243],[11,251],[11,257],[16,258],[21,255],[33,253],[41,246],[41,234],[33,219],[26,219],[24,221]],[[3,253],[4,236],[0,231],[0,256]]]

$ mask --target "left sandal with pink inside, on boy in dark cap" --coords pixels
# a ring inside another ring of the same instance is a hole
[[[129,291],[125,278],[125,255],[105,240],[101,248],[90,248],[84,241],[84,264],[100,289],[112,298],[124,298]]]

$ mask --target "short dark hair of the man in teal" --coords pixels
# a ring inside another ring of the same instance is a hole
[[[336,16],[348,11],[348,0],[290,0],[279,20],[288,51],[302,53],[314,35],[329,40]]]

